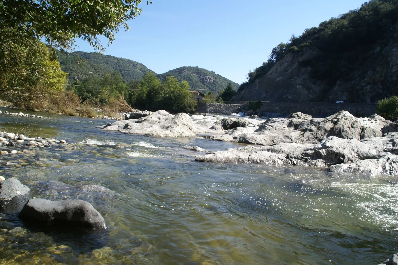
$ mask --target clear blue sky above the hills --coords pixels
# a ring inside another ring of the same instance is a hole
[[[143,1],[146,3],[146,1]],[[105,54],[140,62],[156,73],[199,66],[242,83],[292,34],[359,8],[364,0],[152,0]],[[94,51],[83,41],[76,50]]]

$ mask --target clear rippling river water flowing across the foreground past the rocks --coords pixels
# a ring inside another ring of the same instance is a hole
[[[204,138],[152,138],[95,128],[107,121],[0,115],[0,131],[64,139],[66,147],[1,156],[37,198],[86,199],[104,232],[0,218],[0,264],[378,264],[396,252],[396,177],[321,169],[193,162]],[[121,144],[123,143],[123,144]],[[79,197],[54,181],[113,193]],[[51,185],[55,185],[55,188]]]

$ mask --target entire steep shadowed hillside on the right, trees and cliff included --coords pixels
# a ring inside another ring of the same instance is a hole
[[[398,0],[373,0],[280,43],[233,100],[367,102],[398,95]]]

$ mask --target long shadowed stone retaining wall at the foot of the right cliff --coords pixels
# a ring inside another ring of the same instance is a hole
[[[339,111],[348,111],[355,117],[369,117],[376,113],[376,104],[367,103],[332,103],[332,102],[278,102],[264,101],[259,110],[263,113],[278,113],[285,117],[290,113],[302,112],[314,117],[328,117]]]

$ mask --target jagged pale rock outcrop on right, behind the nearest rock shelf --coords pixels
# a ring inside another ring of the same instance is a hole
[[[376,114],[369,118],[357,118],[347,111],[340,111],[322,119],[311,119],[309,115],[303,116],[302,113],[293,113],[290,116],[291,118],[267,119],[254,127],[237,127],[226,134],[212,135],[210,138],[261,145],[288,142],[315,144],[329,136],[357,140],[380,137],[391,123]]]

